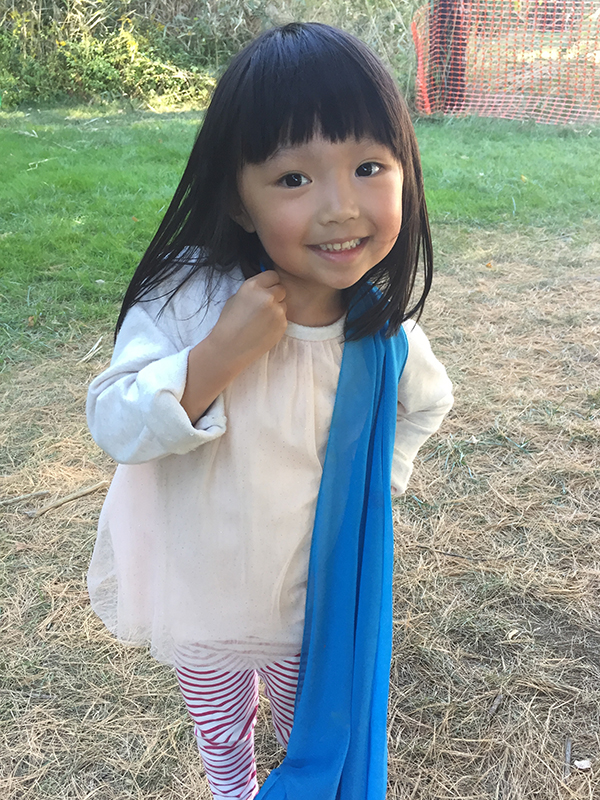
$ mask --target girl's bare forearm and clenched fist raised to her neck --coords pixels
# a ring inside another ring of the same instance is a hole
[[[223,306],[210,334],[190,350],[181,405],[196,422],[235,376],[281,339],[285,289],[274,270],[248,278]]]

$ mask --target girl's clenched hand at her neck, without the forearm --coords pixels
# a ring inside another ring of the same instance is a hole
[[[241,368],[264,355],[287,328],[285,289],[274,270],[244,281],[209,335],[222,357]]]

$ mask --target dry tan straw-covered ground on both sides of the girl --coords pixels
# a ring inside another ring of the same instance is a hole
[[[600,248],[437,241],[424,324],[457,400],[395,506],[389,797],[600,797]],[[97,335],[4,382],[1,497],[110,477],[83,418]],[[90,611],[102,492],[25,515],[46,500],[3,508],[0,796],[208,799],[171,671]],[[264,706],[257,746],[264,776]]]

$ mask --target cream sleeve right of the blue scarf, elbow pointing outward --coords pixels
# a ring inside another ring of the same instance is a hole
[[[398,418],[392,462],[392,494],[406,491],[419,448],[452,408],[452,384],[416,323],[404,324],[408,357],[398,385]]]

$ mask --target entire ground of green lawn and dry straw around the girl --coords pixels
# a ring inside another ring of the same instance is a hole
[[[209,798],[172,672],[89,608],[104,487],[27,514],[112,475],[86,387],[198,121],[0,115],[7,800]],[[600,131],[417,133],[438,268],[422,322],[457,401],[394,506],[388,797],[587,800],[600,796]],[[264,777],[281,757],[265,704],[257,750]]]

